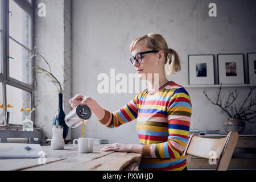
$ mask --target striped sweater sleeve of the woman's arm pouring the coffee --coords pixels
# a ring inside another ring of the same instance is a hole
[[[104,118],[98,120],[108,128],[114,128],[121,126],[127,122],[133,121],[138,115],[138,95],[133,97],[133,99],[128,102],[121,109],[110,113],[110,111],[105,110]]]

